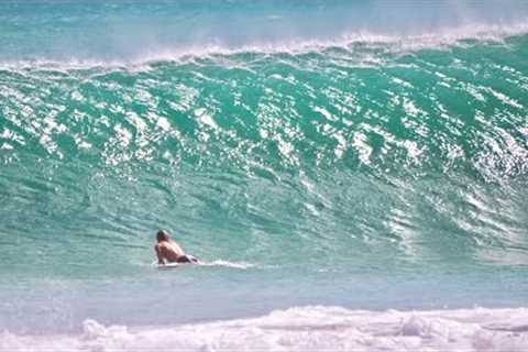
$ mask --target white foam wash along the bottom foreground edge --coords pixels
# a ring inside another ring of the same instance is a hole
[[[252,319],[77,336],[0,334],[0,351],[527,351],[528,310],[365,311],[302,307]]]

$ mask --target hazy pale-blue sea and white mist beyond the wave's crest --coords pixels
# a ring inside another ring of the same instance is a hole
[[[522,1],[4,1],[0,62],[145,61],[527,31]]]

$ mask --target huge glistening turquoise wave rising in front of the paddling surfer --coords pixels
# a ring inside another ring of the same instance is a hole
[[[127,272],[158,227],[261,265],[526,265],[527,48],[6,67],[2,272]]]

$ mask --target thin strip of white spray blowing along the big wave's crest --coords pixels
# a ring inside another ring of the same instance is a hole
[[[508,24],[468,23],[464,25],[437,29],[420,34],[385,34],[369,31],[353,31],[342,33],[333,38],[299,38],[289,37],[277,42],[255,42],[240,46],[222,46],[217,43],[197,43],[184,47],[164,47],[148,51],[130,58],[98,59],[98,58],[68,58],[68,59],[10,59],[0,62],[0,69],[86,69],[98,68],[106,70],[148,70],[152,63],[160,62],[194,62],[199,57],[229,56],[237,54],[306,54],[323,52],[330,48],[354,51],[354,44],[364,44],[366,47],[385,48],[389,52],[402,53],[421,48],[443,48],[452,45],[469,45],[464,41],[503,42],[507,37],[528,33],[528,19]],[[359,53],[354,53],[358,55]],[[372,54],[365,53],[370,59]],[[229,62],[229,61],[228,61]],[[226,62],[227,63],[227,62]],[[234,63],[239,65],[240,63]]]

